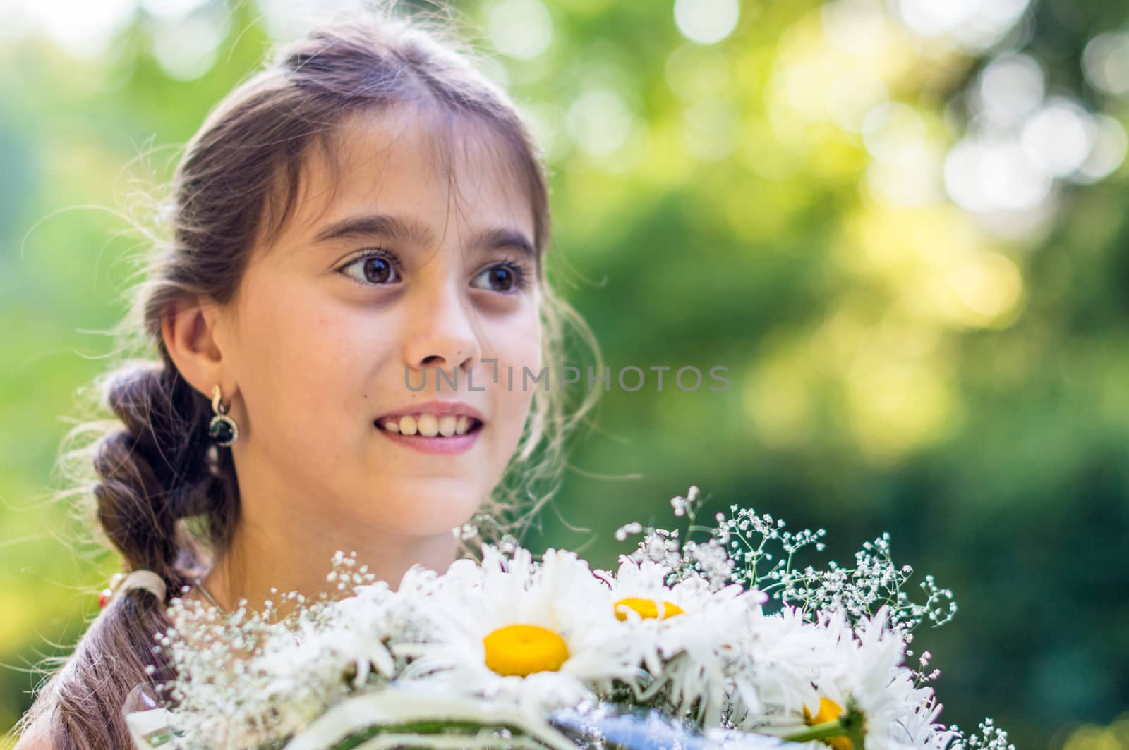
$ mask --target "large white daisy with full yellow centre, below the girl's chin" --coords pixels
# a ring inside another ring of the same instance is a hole
[[[484,546],[480,573],[455,567],[429,600],[434,639],[399,646],[415,656],[404,679],[540,714],[631,677],[629,644],[597,606],[607,589],[575,553],[550,549],[537,565],[525,549],[507,558]]]

